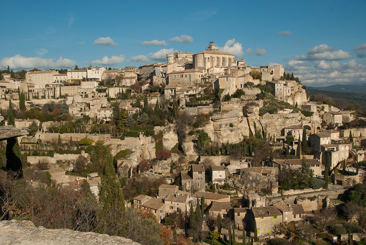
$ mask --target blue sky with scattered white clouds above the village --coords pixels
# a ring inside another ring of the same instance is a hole
[[[308,86],[366,80],[366,1],[3,1],[0,69],[139,66],[216,41]]]

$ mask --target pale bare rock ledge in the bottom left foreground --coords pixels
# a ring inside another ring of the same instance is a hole
[[[31,221],[0,221],[0,244],[13,245],[141,245],[124,237],[110,237],[94,232],[80,232],[69,229],[46,229],[36,227]]]

